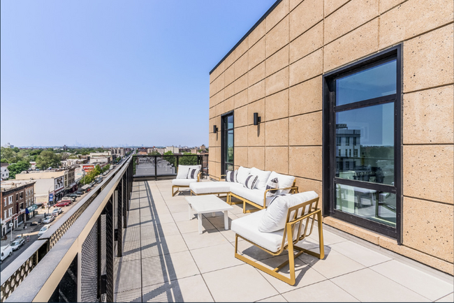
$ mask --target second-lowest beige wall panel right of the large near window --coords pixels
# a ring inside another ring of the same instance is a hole
[[[453,153],[452,145],[404,145],[404,195],[453,204]]]

